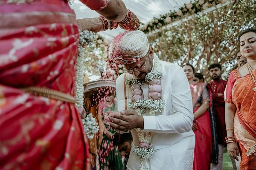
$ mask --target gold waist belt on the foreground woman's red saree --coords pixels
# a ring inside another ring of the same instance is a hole
[[[51,99],[61,100],[63,102],[75,103],[75,97],[65,94],[61,91],[56,91],[45,87],[28,87],[22,88],[23,91],[33,94],[35,96],[43,96]]]

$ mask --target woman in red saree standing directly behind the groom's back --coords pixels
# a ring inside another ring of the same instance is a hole
[[[195,83],[193,81],[195,69],[192,65],[186,63],[183,65],[183,70],[189,80],[193,102],[194,123],[192,130],[195,133],[193,170],[209,170],[212,155],[212,130],[210,120],[210,115],[212,114],[208,112],[208,108],[211,107],[211,90],[208,83]]]

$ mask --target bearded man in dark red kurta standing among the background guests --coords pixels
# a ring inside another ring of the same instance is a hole
[[[218,137],[218,164],[212,164],[212,170],[222,170],[223,162],[223,148],[226,136],[225,130],[225,101],[224,90],[227,85],[227,81],[221,78],[221,65],[218,63],[212,64],[208,68],[212,82],[212,105],[215,115],[215,122],[217,128]]]

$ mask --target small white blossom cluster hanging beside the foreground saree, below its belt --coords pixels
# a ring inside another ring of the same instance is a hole
[[[93,139],[93,136],[99,131],[99,125],[96,122],[96,119],[93,117],[93,114],[88,114],[84,119],[82,119],[84,125],[84,132],[88,139]]]

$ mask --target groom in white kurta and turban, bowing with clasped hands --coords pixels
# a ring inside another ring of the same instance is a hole
[[[127,69],[116,80],[119,112],[104,117],[115,130],[132,130],[128,169],[192,170],[192,98],[183,69],[160,61],[142,31],[117,35],[109,57]]]

